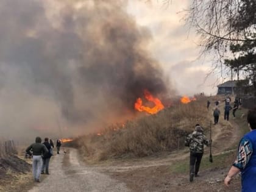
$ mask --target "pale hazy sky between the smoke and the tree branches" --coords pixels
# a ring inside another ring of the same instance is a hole
[[[192,96],[202,91],[215,94],[217,88],[214,85],[220,76],[212,74],[204,82],[212,61],[206,55],[198,58],[198,37],[185,25],[184,10],[188,9],[190,1],[170,1],[168,6],[164,2],[131,0],[127,10],[140,26],[151,30],[152,38],[147,49],[160,62],[179,94]]]

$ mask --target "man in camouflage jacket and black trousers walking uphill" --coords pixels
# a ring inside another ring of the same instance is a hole
[[[204,154],[204,144],[210,146],[210,142],[204,135],[204,128],[196,124],[194,132],[185,139],[185,146],[190,147],[190,182],[193,182],[194,177],[199,177],[198,172]]]

